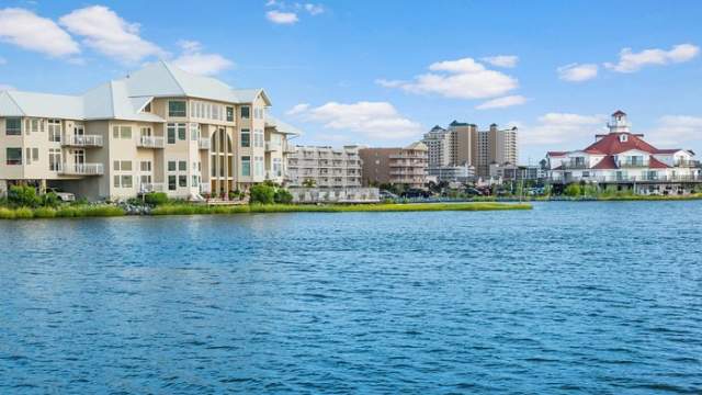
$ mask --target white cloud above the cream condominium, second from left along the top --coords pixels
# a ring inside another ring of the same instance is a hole
[[[123,20],[104,5],[91,5],[64,15],[59,23],[82,36],[83,43],[123,63],[137,63],[148,56],[165,56],[156,44],[139,37],[139,25]]]

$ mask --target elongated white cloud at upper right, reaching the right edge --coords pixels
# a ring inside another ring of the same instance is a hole
[[[699,54],[700,47],[692,44],[676,45],[670,50],[654,48],[639,53],[632,52],[632,48],[624,48],[619,54],[619,63],[605,63],[604,67],[619,72],[634,72],[645,66],[689,61]]]

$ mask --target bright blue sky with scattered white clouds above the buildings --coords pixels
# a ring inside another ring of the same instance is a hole
[[[298,144],[518,126],[520,160],[633,132],[702,153],[702,2],[0,1],[0,90],[82,93],[157,59],[263,88]],[[702,155],[702,154],[701,154]]]

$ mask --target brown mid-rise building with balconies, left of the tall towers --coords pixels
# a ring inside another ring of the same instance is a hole
[[[410,188],[424,188],[428,148],[423,143],[414,143],[405,148],[361,148],[364,185],[406,184]]]

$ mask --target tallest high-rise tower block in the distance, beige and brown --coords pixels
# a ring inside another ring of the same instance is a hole
[[[475,124],[453,121],[445,129],[434,126],[422,143],[429,150],[429,173],[440,181],[456,181],[455,174],[489,177],[491,163],[513,165],[518,159],[516,127],[499,129],[492,124],[478,131]]]

